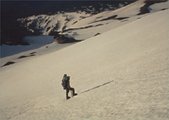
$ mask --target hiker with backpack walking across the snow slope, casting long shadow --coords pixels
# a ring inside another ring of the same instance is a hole
[[[67,76],[67,74],[64,74],[63,76],[62,86],[63,86],[63,89],[66,90],[66,99],[70,98],[68,96],[69,91],[72,91],[72,96],[77,95],[77,93],[75,93],[75,89],[70,86],[70,76]]]

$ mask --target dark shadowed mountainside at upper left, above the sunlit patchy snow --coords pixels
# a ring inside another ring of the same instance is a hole
[[[22,38],[31,33],[20,27],[18,18],[32,15],[53,15],[58,11],[85,11],[96,14],[104,10],[113,10],[133,2],[130,1],[1,1],[1,43],[0,44],[22,44]],[[24,11],[24,12],[23,12]]]

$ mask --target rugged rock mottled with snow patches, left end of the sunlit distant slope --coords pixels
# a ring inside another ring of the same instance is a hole
[[[43,35],[48,35],[53,29],[62,32],[71,24],[79,21],[82,18],[88,17],[90,14],[85,12],[67,12],[58,13],[56,15],[38,15],[28,18],[20,18],[20,21],[28,30],[34,29]]]

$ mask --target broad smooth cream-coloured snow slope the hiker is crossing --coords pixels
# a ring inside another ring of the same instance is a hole
[[[168,120],[169,10],[0,71],[3,120]],[[62,75],[78,96],[66,101]]]

